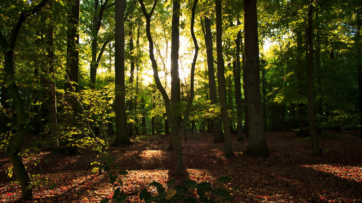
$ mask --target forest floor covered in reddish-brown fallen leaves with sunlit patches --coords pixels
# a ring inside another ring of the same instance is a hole
[[[247,143],[236,141],[233,135],[235,156],[223,157],[223,144],[212,143],[211,134],[188,135],[182,141],[184,177],[174,177],[173,152],[166,150],[168,137],[144,135],[143,140],[133,140],[134,145],[110,147],[114,164],[128,174],[120,177],[129,198],[125,202],[143,202],[139,191],[153,181],[166,185],[169,180],[191,179],[211,182],[216,188],[227,189],[232,200],[216,202],[362,202],[362,139],[355,132],[343,134],[328,132],[319,138],[323,156],[312,155],[311,142],[296,137],[294,132],[266,132],[272,154],[267,158],[242,155]],[[147,136],[147,137],[146,137]],[[34,200],[28,202],[100,202],[113,195],[109,174],[92,173],[92,163],[97,153],[81,150],[83,155],[51,155],[38,151],[26,160],[34,181],[43,182],[34,189]],[[41,160],[34,165],[34,159]],[[25,202],[19,200],[20,185],[7,176],[9,159],[0,153],[0,202]],[[215,181],[221,176],[233,178],[227,183]],[[195,191],[190,191],[196,196]],[[153,192],[156,193],[156,192]],[[110,200],[110,202],[113,202]]]

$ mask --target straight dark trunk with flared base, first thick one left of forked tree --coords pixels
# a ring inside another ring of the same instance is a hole
[[[125,8],[126,0],[115,1],[115,119],[116,136],[112,146],[132,144],[128,137],[125,92]]]

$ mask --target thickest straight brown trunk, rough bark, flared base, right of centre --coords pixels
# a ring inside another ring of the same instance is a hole
[[[261,110],[260,64],[257,28],[256,0],[244,0],[245,31],[245,100],[248,112],[247,154],[268,156],[270,151],[264,136],[264,121]]]

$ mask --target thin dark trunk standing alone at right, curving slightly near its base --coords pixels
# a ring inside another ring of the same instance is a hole
[[[314,57],[313,57],[313,1],[310,0],[308,9],[308,81],[307,81],[307,95],[308,95],[308,113],[309,113],[309,128],[312,140],[312,146],[314,155],[321,156],[322,150],[318,146],[315,118],[314,118],[314,106],[313,106],[313,69],[314,69]]]

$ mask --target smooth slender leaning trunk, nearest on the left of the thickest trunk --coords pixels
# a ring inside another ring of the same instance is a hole
[[[219,89],[219,100],[221,105],[221,117],[224,126],[224,153],[225,157],[233,156],[231,148],[231,133],[229,117],[227,112],[226,102],[226,91],[225,91],[225,64],[223,58],[223,47],[222,47],[222,13],[221,13],[221,0],[215,0],[216,10],[216,55],[218,61],[218,89]]]

